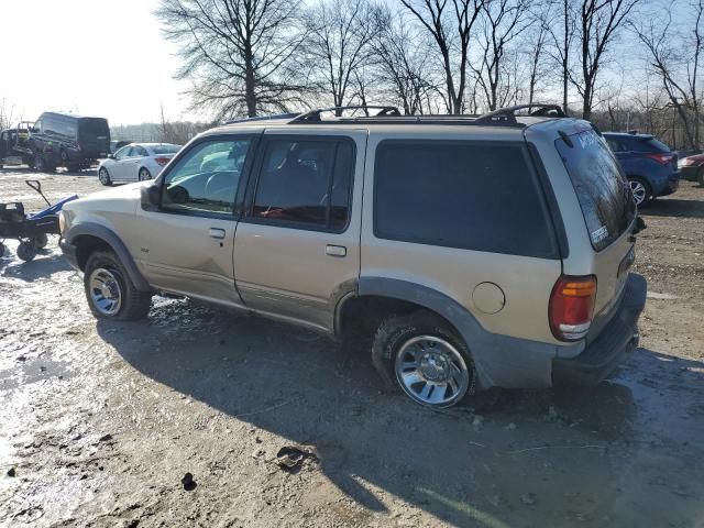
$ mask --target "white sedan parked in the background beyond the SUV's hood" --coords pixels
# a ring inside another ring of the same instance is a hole
[[[100,163],[98,179],[102,185],[112,185],[155,178],[180,147],[169,143],[131,143]]]

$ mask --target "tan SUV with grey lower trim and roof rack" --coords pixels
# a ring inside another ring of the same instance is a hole
[[[432,407],[595,383],[637,345],[642,222],[588,122],[322,112],[210,130],[156,180],[67,204],[94,314],[142,318],[164,293],[369,332],[385,380]]]

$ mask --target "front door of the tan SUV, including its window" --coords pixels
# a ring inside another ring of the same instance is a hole
[[[153,287],[241,306],[232,265],[235,204],[253,142],[245,135],[206,138],[157,180],[161,205],[139,209],[140,246],[132,252]]]

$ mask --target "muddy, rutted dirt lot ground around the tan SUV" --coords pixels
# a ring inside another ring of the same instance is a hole
[[[0,201],[41,208],[32,176],[0,170]],[[37,177],[52,199],[100,188]],[[10,244],[0,525],[704,527],[704,188],[644,216],[642,348],[614,380],[443,414],[284,324],[161,298],[96,321],[55,239],[29,264]],[[276,464],[285,446],[310,447],[300,471]]]

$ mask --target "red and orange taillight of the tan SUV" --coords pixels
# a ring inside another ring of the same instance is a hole
[[[550,329],[560,341],[578,341],[590,331],[596,301],[596,277],[563,275],[550,295]]]

